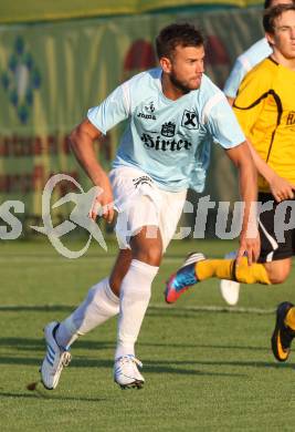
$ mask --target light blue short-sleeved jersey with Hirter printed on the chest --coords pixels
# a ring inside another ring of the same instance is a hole
[[[161,88],[161,69],[135,75],[119,85],[88,120],[103,133],[128,119],[113,167],[133,166],[160,188],[202,192],[211,142],[224,148],[245,138],[224,94],[203,75],[198,90],[176,101]]]

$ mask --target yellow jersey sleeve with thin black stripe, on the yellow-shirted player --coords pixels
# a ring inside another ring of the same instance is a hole
[[[268,90],[272,86],[270,78],[264,68],[254,68],[245,75],[234,100],[233,111],[246,136],[250,136],[268,95]]]

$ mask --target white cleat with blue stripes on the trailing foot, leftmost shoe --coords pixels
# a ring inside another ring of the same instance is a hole
[[[70,351],[59,347],[54,338],[57,327],[59,322],[53,321],[44,328],[46,354],[40,372],[41,381],[48,390],[53,390],[57,387],[63,368],[69,366],[71,361]]]

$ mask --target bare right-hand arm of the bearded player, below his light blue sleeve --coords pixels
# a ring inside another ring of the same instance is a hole
[[[257,230],[257,172],[246,142],[226,150],[226,155],[239,171],[240,195],[244,203],[238,264],[246,254],[249,265],[260,256],[260,235]]]

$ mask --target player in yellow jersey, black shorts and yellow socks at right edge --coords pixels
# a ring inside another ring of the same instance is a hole
[[[259,171],[261,255],[247,266],[245,257],[187,258],[166,288],[175,302],[190,286],[211,277],[245,284],[281,284],[295,255],[295,6],[265,11],[263,25],[273,53],[244,78],[233,109]],[[239,284],[238,284],[239,286]],[[295,337],[295,307],[285,301],[276,312],[272,337],[275,358],[285,361]]]

